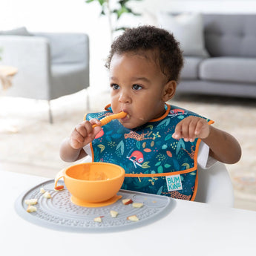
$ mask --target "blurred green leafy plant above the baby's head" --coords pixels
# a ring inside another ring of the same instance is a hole
[[[125,30],[126,27],[117,27],[117,22],[124,13],[132,14],[134,16],[140,16],[140,13],[135,13],[130,7],[128,2],[130,1],[142,1],[142,0],[86,0],[85,3],[98,2],[101,7],[102,16],[108,16],[108,24],[111,30],[111,38],[116,30]],[[112,24],[112,17],[115,16],[116,24]]]

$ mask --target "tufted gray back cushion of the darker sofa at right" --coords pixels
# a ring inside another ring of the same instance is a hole
[[[255,14],[204,14],[203,23],[211,56],[256,57]]]

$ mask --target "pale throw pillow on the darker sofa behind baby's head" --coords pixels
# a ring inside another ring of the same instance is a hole
[[[158,24],[174,34],[185,56],[209,56],[203,36],[203,17],[200,13],[158,13]]]

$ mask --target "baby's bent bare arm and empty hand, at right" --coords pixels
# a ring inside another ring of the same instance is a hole
[[[240,145],[231,134],[214,128],[198,116],[188,116],[180,121],[172,137],[191,142],[200,138],[209,145],[209,155],[222,163],[237,163],[241,157]]]

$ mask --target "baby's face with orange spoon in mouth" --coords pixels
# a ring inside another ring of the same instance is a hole
[[[110,65],[111,107],[126,128],[137,128],[165,113],[167,79],[153,59],[133,53],[114,54]]]

